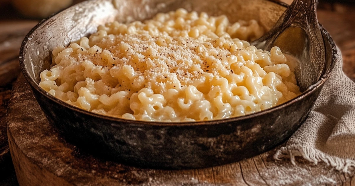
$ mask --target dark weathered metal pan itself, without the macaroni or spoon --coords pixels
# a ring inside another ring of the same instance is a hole
[[[184,7],[229,19],[256,19],[267,29],[287,5],[268,0],[91,0],[40,22],[20,51],[23,74],[44,113],[65,138],[99,156],[139,167],[202,168],[236,162],[285,141],[307,117],[334,66],[337,49],[322,28],[326,67],[320,79],[282,105],[237,118],[206,122],[143,122],[108,117],[73,107],[38,86],[51,63],[51,50],[95,32],[114,19],[143,20]],[[152,8],[154,7],[154,8]],[[89,163],[89,162],[88,162]]]

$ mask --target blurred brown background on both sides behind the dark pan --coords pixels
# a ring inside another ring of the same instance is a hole
[[[25,35],[41,19],[83,0],[0,0],[0,185],[16,186],[6,136],[6,108],[20,73],[18,53]],[[290,4],[293,0],[282,0]],[[355,1],[319,0],[318,21],[343,55],[344,72],[355,77]]]

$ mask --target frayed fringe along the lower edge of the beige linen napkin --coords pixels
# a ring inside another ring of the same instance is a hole
[[[303,157],[309,162],[315,165],[318,162],[324,162],[328,166],[335,168],[343,173],[350,173],[350,171],[355,170],[355,160],[342,159],[335,156],[328,155],[320,150],[312,147],[305,147],[301,145],[289,145],[287,147],[281,147],[275,155],[275,160],[290,159],[293,165],[296,165],[295,157]]]

